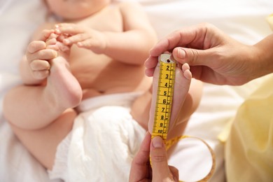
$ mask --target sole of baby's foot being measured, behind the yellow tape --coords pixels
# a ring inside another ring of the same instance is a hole
[[[153,98],[151,104],[151,111],[150,111],[150,120],[148,123],[148,130],[149,132],[153,132],[153,121],[155,115],[155,102],[157,97],[157,90],[158,90],[158,77],[159,77],[159,65],[155,68],[155,72],[153,75]],[[169,123],[169,131],[175,127],[176,118],[179,116],[179,112],[181,106],[186,99],[190,88],[190,81],[192,78],[192,73],[190,72],[190,66],[188,64],[177,64],[176,65],[176,76],[175,76],[175,83],[174,83],[174,97],[172,102],[172,115],[170,118]]]

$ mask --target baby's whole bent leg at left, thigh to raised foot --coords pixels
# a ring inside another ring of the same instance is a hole
[[[20,85],[6,94],[3,111],[13,132],[27,150],[51,169],[57,145],[71,131],[82,97],[78,80],[64,57],[50,62],[44,85]]]

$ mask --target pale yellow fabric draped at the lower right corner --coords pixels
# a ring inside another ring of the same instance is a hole
[[[225,146],[228,181],[273,181],[273,75],[239,107]]]

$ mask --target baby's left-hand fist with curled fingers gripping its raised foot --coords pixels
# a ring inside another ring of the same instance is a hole
[[[47,48],[46,40],[54,30],[44,30],[37,41],[31,41],[27,46],[27,63],[32,71],[34,78],[42,80],[47,78],[50,70],[48,60],[57,57],[57,51]]]

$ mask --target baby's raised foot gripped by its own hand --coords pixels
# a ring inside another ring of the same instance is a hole
[[[78,80],[69,71],[70,48],[58,40],[57,34],[50,34],[45,41],[47,48],[56,50],[58,56],[49,60],[50,75],[45,90],[48,90],[52,104],[59,109],[75,107],[80,103],[82,90]]]

